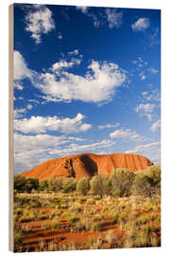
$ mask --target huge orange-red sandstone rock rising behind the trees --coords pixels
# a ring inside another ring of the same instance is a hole
[[[131,172],[144,170],[153,163],[143,155],[112,154],[94,155],[84,153],[48,160],[23,173],[26,177],[92,177],[94,174],[111,174],[113,169],[127,168]]]

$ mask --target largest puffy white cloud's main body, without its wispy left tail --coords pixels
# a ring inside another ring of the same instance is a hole
[[[55,68],[56,65],[53,66]],[[110,101],[126,78],[126,72],[117,64],[93,61],[85,76],[66,71],[62,71],[61,76],[46,72],[42,73],[41,82],[36,86],[44,94],[62,101],[101,102]]]

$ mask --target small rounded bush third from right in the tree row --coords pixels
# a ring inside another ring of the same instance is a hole
[[[91,189],[93,194],[110,194],[110,178],[105,175],[95,175],[91,179]]]

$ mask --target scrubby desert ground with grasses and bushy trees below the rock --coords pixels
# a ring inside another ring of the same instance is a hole
[[[14,250],[161,246],[161,168],[37,180],[14,176]]]

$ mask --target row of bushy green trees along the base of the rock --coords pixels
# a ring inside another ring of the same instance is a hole
[[[107,175],[94,175],[90,180],[82,177],[56,177],[38,180],[35,177],[14,175],[14,193],[17,192],[79,192],[86,195],[88,192],[113,196],[143,195],[152,196],[161,192],[161,166],[152,165],[144,171],[130,172],[124,168],[112,171]]]

